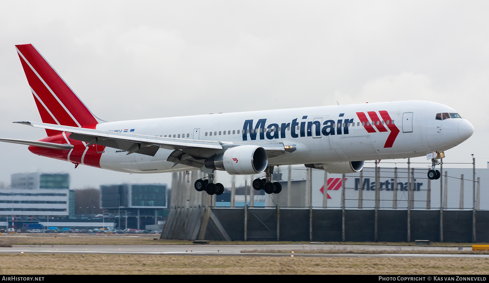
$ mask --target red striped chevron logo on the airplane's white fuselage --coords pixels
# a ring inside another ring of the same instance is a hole
[[[362,123],[363,128],[365,128],[365,130],[367,130],[367,132],[377,132],[374,129],[374,126],[375,126],[375,128],[377,128],[377,130],[379,132],[384,132],[384,131],[390,130],[391,133],[389,134],[389,136],[387,137],[387,140],[385,141],[384,148],[392,148],[392,145],[396,141],[396,138],[399,134],[399,129],[396,125],[394,125],[394,121],[391,119],[389,113],[387,113],[387,111],[385,111],[385,110],[378,111],[378,113],[380,114],[380,117],[382,117],[382,120],[380,120],[380,118],[377,115],[377,112],[375,112],[375,111],[368,111],[367,113],[370,117],[370,120],[367,118],[365,113],[356,112],[356,116],[358,117],[358,119]],[[384,123],[389,130],[385,129]]]

